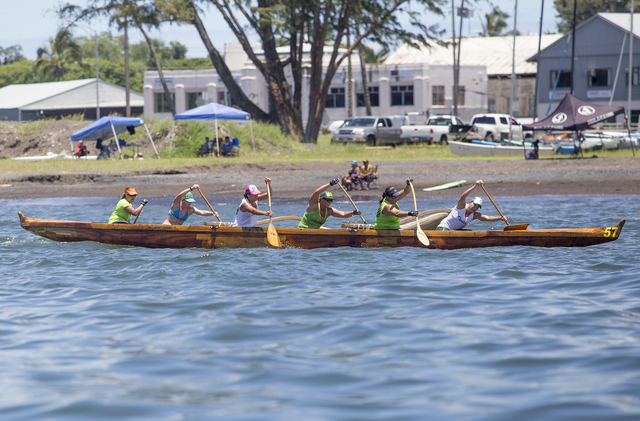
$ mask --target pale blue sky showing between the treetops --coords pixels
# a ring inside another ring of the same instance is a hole
[[[68,2],[85,6],[84,0],[68,0]],[[2,13],[0,13],[0,47],[6,48],[12,45],[20,45],[24,56],[29,59],[36,58],[36,51],[39,47],[45,46],[49,38],[52,38],[56,30],[63,24],[56,14],[55,9],[59,4],[56,0],[4,0]],[[460,4],[460,0],[456,1],[456,7]],[[469,4],[469,2],[465,2]],[[519,0],[517,13],[517,29],[522,34],[537,34],[540,25],[540,9],[542,0]],[[471,34],[477,36],[482,30],[480,23],[485,13],[492,10],[493,5],[500,7],[511,17],[507,20],[509,29],[513,28],[513,12],[514,0],[494,0],[492,3],[488,1],[472,2],[474,16],[471,19],[465,19],[463,25],[463,36]],[[545,2],[545,10],[543,17],[543,33],[557,31],[556,11],[553,2],[547,0]],[[451,35],[451,3],[445,8],[445,17],[432,14],[425,15],[425,22],[435,24],[440,22],[440,28],[445,29],[445,38]],[[214,46],[224,53],[224,44],[237,42],[233,33],[226,29],[226,24],[222,17],[209,7],[205,8],[205,14],[201,16],[205,28],[209,33]],[[456,26],[459,24],[456,24]],[[74,34],[76,36],[93,35],[94,31],[103,32],[111,31],[117,34],[113,28],[109,28],[106,19],[92,21],[90,24],[81,25]],[[457,29],[456,29],[457,32]],[[137,43],[143,40],[142,35],[136,30],[129,31],[131,42]],[[168,45],[171,41],[178,41],[187,46],[188,57],[206,57],[207,51],[202,44],[198,33],[192,25],[176,26],[165,25],[161,31],[151,31],[150,36],[160,38]],[[257,38],[252,39],[257,41]]]

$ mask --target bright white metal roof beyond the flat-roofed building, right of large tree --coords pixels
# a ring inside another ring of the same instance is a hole
[[[562,34],[543,35],[541,49],[546,48]],[[445,40],[450,41],[450,40]],[[513,36],[463,38],[460,49],[460,63],[463,66],[486,66],[487,74],[510,75],[513,54]],[[516,36],[516,74],[536,73],[537,64],[526,60],[538,53],[538,35]],[[444,64],[453,66],[451,45],[420,49],[403,45],[384,62],[385,64]]]

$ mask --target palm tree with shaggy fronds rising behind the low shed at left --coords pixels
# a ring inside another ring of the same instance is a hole
[[[39,70],[43,76],[52,75],[57,81],[64,77],[71,63],[77,63],[82,69],[89,69],[89,65],[82,61],[80,46],[66,29],[60,29],[55,38],[49,38],[49,47],[38,48],[37,54],[34,69]]]

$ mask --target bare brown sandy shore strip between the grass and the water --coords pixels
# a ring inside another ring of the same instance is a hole
[[[418,196],[457,196],[464,186],[437,192],[422,189],[451,181],[481,179],[492,196],[640,194],[640,157],[562,160],[415,160],[374,162],[379,165],[382,188],[402,187],[406,177],[415,181]],[[348,164],[227,164],[194,170],[110,174],[0,175],[3,199],[45,197],[118,197],[124,187],[135,186],[141,197],[172,196],[200,184],[207,196],[240,196],[247,184],[264,185],[272,179],[274,195],[304,199],[319,185],[346,174]],[[354,191],[360,200],[377,199],[381,190]]]

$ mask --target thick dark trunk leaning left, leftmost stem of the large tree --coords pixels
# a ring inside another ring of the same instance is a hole
[[[213,67],[215,67],[216,72],[218,72],[218,75],[220,76],[220,79],[222,79],[222,83],[224,83],[224,86],[227,88],[227,90],[229,91],[233,99],[237,102],[237,105],[240,108],[242,108],[244,111],[251,114],[251,118],[254,120],[258,120],[258,121],[271,120],[273,122],[273,119],[270,118],[271,116],[269,116],[269,114],[265,113],[260,107],[254,104],[245,95],[245,93],[242,91],[240,86],[238,86],[236,81],[233,79],[231,70],[229,70],[229,68],[227,67],[227,64],[224,62],[224,60],[220,56],[220,53],[218,52],[218,50],[216,50],[216,48],[213,46],[213,43],[209,39],[207,30],[204,28],[204,24],[202,23],[202,20],[200,19],[200,16],[196,11],[195,6],[193,6],[193,3],[191,4],[191,6],[193,8],[192,23],[196,27],[196,30],[198,31],[198,34],[200,35],[200,38],[202,39],[204,46],[209,52],[209,58],[211,58],[211,63],[213,64]]]

